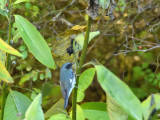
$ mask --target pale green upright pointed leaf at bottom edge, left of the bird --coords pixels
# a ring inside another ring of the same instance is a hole
[[[44,120],[43,110],[41,108],[42,95],[37,95],[25,114],[25,120]]]

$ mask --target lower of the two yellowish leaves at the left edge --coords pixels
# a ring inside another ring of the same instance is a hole
[[[6,70],[5,66],[3,65],[3,63],[0,61],[0,80],[6,82],[6,83],[13,83],[13,79],[10,76],[10,74],[8,73],[8,71]]]

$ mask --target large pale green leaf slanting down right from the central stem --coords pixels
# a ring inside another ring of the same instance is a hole
[[[142,108],[138,98],[117,76],[102,65],[95,66],[101,87],[126,113],[142,120]]]

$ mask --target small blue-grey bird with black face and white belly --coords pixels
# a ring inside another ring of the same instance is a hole
[[[60,68],[60,86],[64,102],[64,109],[68,106],[69,96],[75,87],[76,78],[72,69],[73,63],[67,62],[62,65]]]

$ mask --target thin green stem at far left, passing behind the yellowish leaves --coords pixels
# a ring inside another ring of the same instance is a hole
[[[7,41],[9,45],[11,43],[11,24],[12,24],[11,23],[11,17],[12,17],[11,13],[12,13],[12,0],[10,0],[9,2],[8,41]],[[6,59],[6,68],[8,71],[10,70],[10,55],[8,53],[7,53],[7,59]],[[7,95],[8,95],[8,86],[4,82],[2,86],[1,120],[3,120],[3,116],[4,116],[4,107],[5,107]]]

